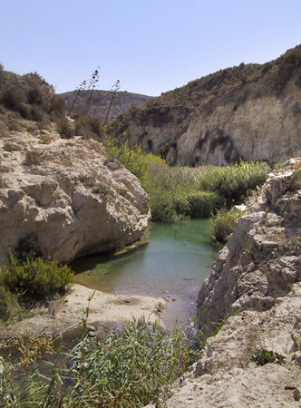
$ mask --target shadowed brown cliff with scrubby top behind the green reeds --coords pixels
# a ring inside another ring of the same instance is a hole
[[[241,63],[154,98],[110,133],[170,163],[277,162],[301,149],[301,46],[277,60]]]

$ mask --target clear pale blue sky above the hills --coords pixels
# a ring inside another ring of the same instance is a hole
[[[0,0],[0,63],[56,92],[101,67],[99,89],[152,96],[301,44],[301,0]]]

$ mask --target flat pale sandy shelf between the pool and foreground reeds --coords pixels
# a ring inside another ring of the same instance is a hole
[[[89,299],[90,305],[89,305]],[[57,334],[82,323],[89,306],[88,324],[108,323],[145,318],[151,323],[160,320],[160,314],[168,301],[162,297],[126,296],[93,291],[88,287],[74,284],[68,295],[53,300],[46,306],[32,310],[31,317],[13,325],[0,325],[0,336],[42,332]]]

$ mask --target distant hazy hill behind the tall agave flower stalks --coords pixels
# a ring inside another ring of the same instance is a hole
[[[66,113],[72,108],[77,92],[64,92],[61,93],[66,102]],[[91,93],[89,91],[83,91],[77,98],[77,101],[73,107],[72,115],[77,113],[83,114],[86,109],[87,103],[89,103]],[[108,121],[116,118],[123,112],[128,112],[131,106],[142,107],[146,102],[152,99],[151,96],[141,95],[139,93],[132,92],[117,92],[113,98],[112,107],[109,112]],[[112,101],[112,92],[110,91],[93,91],[92,100],[89,108],[89,114],[92,116],[101,117],[102,121],[105,120],[109,110],[110,102]]]

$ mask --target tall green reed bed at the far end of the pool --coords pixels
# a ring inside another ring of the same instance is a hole
[[[152,219],[178,222],[188,217],[209,218],[218,209],[240,204],[260,187],[269,168],[267,163],[240,161],[225,167],[198,169],[170,167],[159,156],[142,153],[140,147],[102,140],[109,153],[135,174],[150,195]]]

